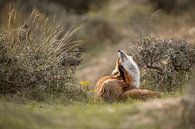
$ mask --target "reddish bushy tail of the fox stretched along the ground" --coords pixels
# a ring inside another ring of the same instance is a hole
[[[122,94],[121,98],[122,99],[127,99],[127,98],[144,99],[144,98],[160,97],[160,96],[161,96],[160,92],[136,88],[136,89],[125,91]]]

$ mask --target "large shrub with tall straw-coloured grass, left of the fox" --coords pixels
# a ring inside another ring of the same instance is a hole
[[[0,31],[0,94],[81,98],[73,84],[82,61],[83,42],[74,40],[77,30],[66,31],[36,10],[30,16],[11,10]]]

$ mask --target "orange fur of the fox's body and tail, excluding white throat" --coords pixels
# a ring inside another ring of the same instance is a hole
[[[105,76],[98,80],[95,86],[95,100],[104,101],[125,100],[127,98],[160,97],[156,91],[135,88],[132,86],[132,76],[124,69],[120,69],[120,60],[117,59],[115,69],[117,75]]]

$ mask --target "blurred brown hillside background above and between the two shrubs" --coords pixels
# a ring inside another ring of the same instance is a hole
[[[194,5],[193,0],[0,0],[0,24],[14,8],[24,16],[36,9],[55,17],[64,30],[81,27],[76,37],[85,41],[85,52],[76,75],[94,85],[114,68],[116,50],[129,50],[144,35],[185,39],[193,46]]]

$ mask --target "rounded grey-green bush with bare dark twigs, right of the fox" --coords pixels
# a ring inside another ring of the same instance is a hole
[[[172,92],[189,80],[193,51],[184,40],[146,36],[131,47],[142,71],[143,87]]]

